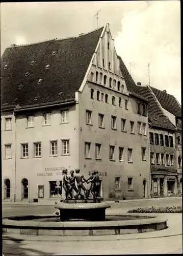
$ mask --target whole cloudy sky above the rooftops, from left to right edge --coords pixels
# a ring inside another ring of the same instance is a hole
[[[117,54],[135,82],[181,103],[180,1],[1,3],[1,56],[22,45],[87,33],[110,24]]]

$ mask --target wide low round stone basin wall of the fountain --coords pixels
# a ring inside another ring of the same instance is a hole
[[[114,216],[109,214],[108,216]],[[4,218],[3,232],[34,236],[98,236],[111,234],[142,233],[167,228],[167,219],[156,214],[118,214],[117,216],[135,216],[136,220],[122,221],[79,221],[46,222],[34,219],[58,218],[55,215],[18,216]],[[139,219],[145,217],[147,219]],[[26,221],[26,219],[29,219]],[[32,220],[30,220],[32,219]]]

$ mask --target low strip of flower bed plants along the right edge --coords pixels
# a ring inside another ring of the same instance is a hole
[[[168,214],[181,214],[182,213],[182,206],[171,206],[171,207],[144,207],[144,208],[137,208],[133,210],[128,210],[128,212],[144,212],[144,213],[168,213]]]

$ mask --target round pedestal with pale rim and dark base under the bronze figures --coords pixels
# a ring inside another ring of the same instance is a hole
[[[55,206],[60,210],[61,221],[71,219],[85,221],[104,221],[109,203],[59,203]]]

